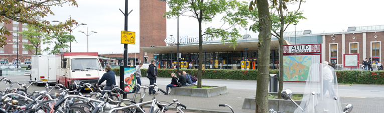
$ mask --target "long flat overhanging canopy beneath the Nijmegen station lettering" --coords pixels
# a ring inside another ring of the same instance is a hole
[[[291,45],[287,40],[284,40],[284,45]],[[225,52],[225,51],[245,51],[244,48],[248,48],[248,51],[257,51],[258,50],[258,42],[238,42],[235,46],[236,48],[229,47],[229,43],[216,43],[216,44],[203,44],[203,50],[207,50],[206,52]],[[177,53],[177,46],[163,46],[163,47],[142,47],[144,52],[152,53],[152,54],[169,54]],[[279,50],[279,40],[271,41],[271,50]],[[199,45],[182,45],[179,46],[180,53],[198,53]],[[204,51],[203,51],[204,52]]]

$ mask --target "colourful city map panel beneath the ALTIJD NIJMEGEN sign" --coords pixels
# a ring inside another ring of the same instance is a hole
[[[320,59],[320,54],[284,55],[284,81],[306,82],[311,65]]]

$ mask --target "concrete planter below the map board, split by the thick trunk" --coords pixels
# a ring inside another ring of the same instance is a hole
[[[243,109],[255,109],[256,101],[254,99],[255,96],[250,96],[244,99],[244,103],[242,104]],[[294,100],[297,104],[300,105],[301,102],[305,102],[302,100]],[[296,108],[298,108],[295,103],[291,100],[285,99],[268,99],[268,109],[273,108],[277,111],[284,112],[293,112]]]

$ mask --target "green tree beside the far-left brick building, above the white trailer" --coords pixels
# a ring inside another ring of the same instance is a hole
[[[23,38],[28,39],[32,45],[23,44],[25,49],[38,55],[41,52],[41,44],[45,42],[45,37],[47,34],[43,33],[41,30],[37,29],[34,25],[28,25],[28,30],[23,32],[18,32],[22,35]]]

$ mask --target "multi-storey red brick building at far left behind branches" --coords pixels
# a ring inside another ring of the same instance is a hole
[[[21,32],[27,29],[26,24],[22,24],[16,21],[12,21],[10,24],[0,23],[0,27],[7,28],[12,35],[6,35],[7,45],[0,48],[0,64],[16,64],[17,56],[19,56],[19,64],[30,64],[32,52],[24,49],[23,44],[31,45],[28,39],[23,39],[17,32]],[[19,44],[17,44],[19,42]],[[19,48],[19,49],[18,49]],[[19,50],[19,51],[18,51]],[[19,55],[17,55],[19,53]]]

